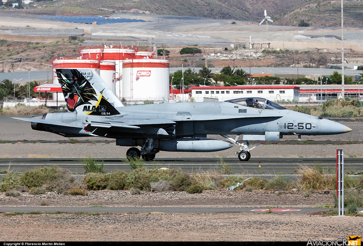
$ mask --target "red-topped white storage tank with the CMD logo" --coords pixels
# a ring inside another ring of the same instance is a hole
[[[126,100],[169,98],[169,61],[133,59],[122,61],[122,97]]]

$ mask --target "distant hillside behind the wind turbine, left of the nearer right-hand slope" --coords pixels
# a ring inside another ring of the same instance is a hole
[[[287,9],[306,3],[306,0],[262,0],[262,1],[238,1],[238,0],[57,0],[35,2],[30,9],[21,10],[30,13],[46,13],[48,9],[54,9],[54,14],[66,14],[65,12],[100,12],[106,9],[110,12],[172,14],[179,16],[196,16],[220,19],[234,19],[247,21],[260,21],[264,15],[264,9],[268,8],[268,14],[278,14]],[[36,11],[35,11],[36,10]]]

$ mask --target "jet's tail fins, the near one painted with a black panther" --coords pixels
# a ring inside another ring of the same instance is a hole
[[[92,69],[56,69],[69,112],[90,115],[119,114],[122,103]]]

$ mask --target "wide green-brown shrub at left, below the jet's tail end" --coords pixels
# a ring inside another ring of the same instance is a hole
[[[40,167],[34,170],[25,171],[20,177],[20,185],[30,189],[42,187],[46,191],[62,193],[74,188],[75,179],[69,170],[52,167]]]

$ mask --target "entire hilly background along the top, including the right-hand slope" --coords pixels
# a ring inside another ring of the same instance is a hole
[[[114,12],[171,14],[260,22],[264,10],[272,25],[297,26],[305,20],[310,26],[340,26],[339,0],[54,0],[37,1],[26,9],[2,7],[0,12],[49,15],[108,15]],[[363,27],[363,1],[344,2],[344,26]]]

